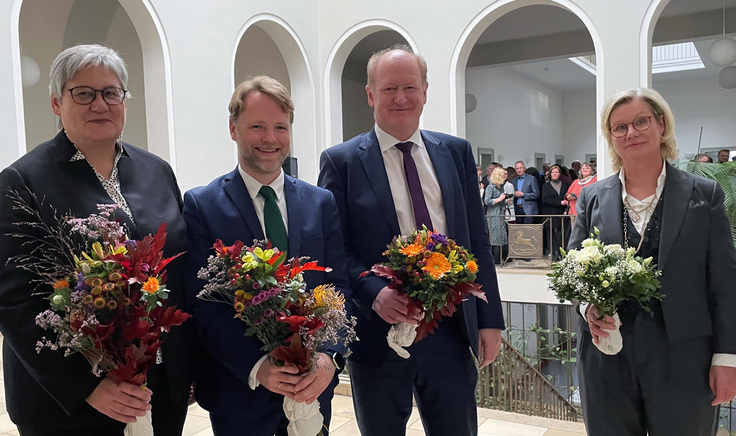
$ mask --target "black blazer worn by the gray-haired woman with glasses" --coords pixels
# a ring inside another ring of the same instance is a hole
[[[140,239],[167,222],[168,239],[164,254],[171,256],[186,249],[186,229],[180,214],[181,195],[171,167],[161,158],[129,144],[118,162],[120,187],[133,212],[135,224],[118,211],[131,237]],[[37,327],[34,318],[49,308],[47,300],[32,295],[32,275],[8,258],[25,253],[28,247],[8,233],[22,231],[15,223],[28,220],[12,208],[8,190],[19,192],[33,202],[28,190],[44,202],[44,217],[50,221],[55,208],[60,215],[86,217],[97,213],[98,203],[112,203],[94,170],[86,160],[69,162],[76,148],[62,131],[0,173],[0,331],[5,336],[3,363],[5,390],[10,418],[19,425],[47,428],[78,428],[111,425],[113,421],[89,406],[85,399],[102,380],[80,354],[64,357],[61,351],[36,353],[36,341],[50,334]],[[170,302],[183,308],[181,268],[183,259],[168,269]],[[39,290],[41,291],[41,290]],[[50,292],[49,286],[42,291]],[[193,335],[186,332],[189,321],[166,335],[162,348],[171,394],[183,398],[189,393]],[[154,393],[155,395],[155,393]],[[41,412],[42,411],[42,412]]]

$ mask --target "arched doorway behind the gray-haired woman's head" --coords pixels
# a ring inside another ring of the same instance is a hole
[[[128,115],[124,140],[168,160],[175,168],[167,47],[151,6],[141,0],[25,0],[18,30],[24,78],[26,150],[56,135],[49,105],[49,68],[63,49],[99,43],[117,50],[128,67]],[[91,19],[90,17],[94,17]]]

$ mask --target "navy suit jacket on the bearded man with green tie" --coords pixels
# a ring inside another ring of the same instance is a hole
[[[307,271],[308,287],[333,283],[350,301],[350,288],[344,267],[340,218],[335,199],[329,191],[285,176],[284,191],[289,221],[287,256],[309,256],[320,265],[333,268],[331,273]],[[232,245],[239,239],[251,245],[265,239],[253,202],[236,168],[209,185],[184,194],[184,219],[187,222],[189,256],[187,260],[187,307],[194,311],[200,342],[205,350],[195,394],[209,412],[238,419],[252,419],[261,424],[264,414],[278,413],[283,397],[263,386],[251,390],[248,376],[265,354],[254,337],[245,337],[246,324],[233,318],[232,307],[204,301],[197,294],[205,282],[196,278],[213,254],[212,245],[221,239]],[[340,347],[330,350],[345,353]],[[278,397],[273,399],[272,396]],[[276,410],[270,410],[276,407]],[[247,414],[247,415],[244,415]]]

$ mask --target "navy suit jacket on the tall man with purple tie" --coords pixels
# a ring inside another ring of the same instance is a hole
[[[467,141],[454,136],[426,130],[421,135],[442,191],[448,237],[476,256],[478,282],[488,298],[488,303],[469,298],[456,315],[464,317],[460,324],[477,354],[478,329],[502,329],[504,323],[473,152]],[[390,325],[373,312],[372,305],[387,281],[372,274],[359,275],[386,260],[382,255],[386,245],[401,231],[375,131],[325,150],[318,184],[335,194],[353,301],[360,309],[355,311],[360,341],[351,347],[351,358],[377,367],[389,352],[386,334]]]

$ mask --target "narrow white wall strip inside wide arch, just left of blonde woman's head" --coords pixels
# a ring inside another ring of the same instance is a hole
[[[562,150],[565,165],[596,152],[595,126],[598,113],[595,89],[574,89],[562,93]]]

